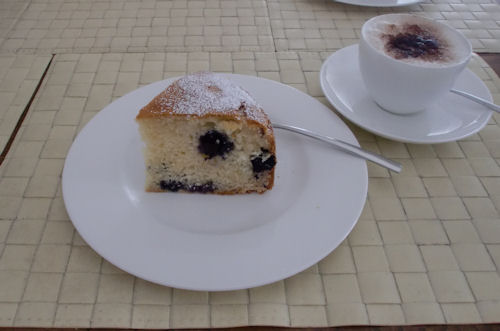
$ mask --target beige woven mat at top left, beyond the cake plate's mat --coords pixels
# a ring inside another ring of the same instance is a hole
[[[4,52],[273,51],[262,0],[38,0]]]

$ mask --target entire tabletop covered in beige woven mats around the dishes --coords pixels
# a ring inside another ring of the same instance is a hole
[[[195,292],[137,279],[98,256],[66,213],[67,151],[112,100],[210,70],[277,80],[329,105],[322,62],[357,43],[366,19],[387,12],[444,21],[475,51],[500,52],[500,6],[487,0],[400,8],[326,0],[0,2],[0,326],[500,322],[498,114],[478,134],[435,145],[383,139],[346,121],[364,148],[400,161],[403,171],[369,164],[367,202],[345,242],[308,270],[259,288]],[[498,55],[485,58],[498,66]],[[477,55],[469,68],[499,103],[494,70]]]

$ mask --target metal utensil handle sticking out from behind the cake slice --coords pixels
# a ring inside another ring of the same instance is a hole
[[[360,156],[365,160],[374,162],[374,163],[376,163],[384,168],[387,168],[389,170],[392,170],[394,172],[399,173],[401,171],[402,166],[400,163],[398,163],[396,161],[389,160],[389,159],[383,157],[382,155],[375,154],[375,153],[366,151],[364,149],[361,149],[358,146],[352,145],[352,144],[345,142],[343,140],[328,137],[328,136],[319,135],[319,134],[314,133],[312,131],[298,128],[296,126],[291,126],[291,125],[273,123],[273,128],[299,133],[299,134],[302,134],[304,136],[329,143],[329,144],[331,144],[331,145],[333,145],[333,146],[335,146],[343,151],[346,151],[350,154]]]

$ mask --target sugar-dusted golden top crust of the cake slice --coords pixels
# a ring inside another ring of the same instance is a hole
[[[158,111],[204,116],[211,113],[242,115],[267,124],[268,120],[252,96],[229,79],[210,72],[184,76],[160,95]],[[178,93],[175,93],[177,88]],[[172,93],[174,92],[174,93]]]

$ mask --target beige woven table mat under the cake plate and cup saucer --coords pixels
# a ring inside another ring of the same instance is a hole
[[[329,54],[56,55],[0,166],[0,326],[500,322],[498,115],[479,134],[437,145],[352,126],[364,147],[399,160],[403,172],[369,165],[368,200],[348,239],[317,265],[264,287],[209,293],[154,285],[103,260],[73,228],[61,196],[64,159],[77,132],[113,99],[212,70],[274,79],[325,102],[318,75]],[[470,68],[498,102],[498,77],[479,57]]]

